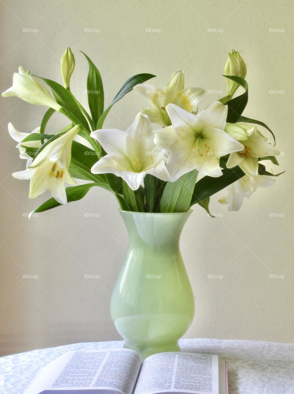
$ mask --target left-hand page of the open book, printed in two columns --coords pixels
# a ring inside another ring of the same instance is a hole
[[[59,359],[41,370],[25,394],[74,390],[131,394],[141,368],[140,356],[130,349],[71,351]]]

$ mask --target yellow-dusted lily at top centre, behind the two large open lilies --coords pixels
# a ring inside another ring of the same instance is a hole
[[[183,71],[175,72],[164,90],[149,84],[136,85],[133,90],[145,96],[151,104],[151,108],[147,108],[141,113],[147,115],[152,123],[164,127],[171,125],[169,115],[166,112],[167,104],[176,104],[180,108],[192,112],[197,109],[197,104],[204,93],[204,89],[201,87],[184,89]]]

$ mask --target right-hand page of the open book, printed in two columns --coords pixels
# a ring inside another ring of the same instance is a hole
[[[134,394],[159,392],[219,394],[218,356],[171,352],[148,357]]]

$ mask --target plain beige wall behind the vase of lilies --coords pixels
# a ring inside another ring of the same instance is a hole
[[[211,203],[211,211],[222,217],[211,219],[194,207],[181,239],[196,301],[186,337],[293,342],[293,2],[5,0],[0,6],[2,91],[19,65],[61,82],[60,58],[71,46],[76,56],[73,90],[84,104],[87,63],[79,50],[99,67],[106,103],[133,74],[154,73],[154,84],[163,87],[178,69],[185,71],[187,87],[225,94],[226,52],[242,53],[249,82],[245,115],[266,121],[275,131],[284,155],[274,171],[286,173],[272,188],[259,189],[239,212],[228,213],[218,204],[222,193]],[[205,95],[202,108],[218,97]],[[24,214],[48,194],[29,200],[29,183],[11,177],[24,162],[7,123],[30,132],[40,125],[45,108],[16,98],[1,103],[1,354],[119,339],[109,314],[127,247],[117,203],[95,188],[78,203],[28,221]],[[105,125],[124,129],[145,105],[130,93]],[[51,130],[61,122],[61,117],[52,119]],[[87,212],[100,217],[85,217]],[[86,273],[100,279],[85,280]],[[24,274],[39,278],[23,279]]]

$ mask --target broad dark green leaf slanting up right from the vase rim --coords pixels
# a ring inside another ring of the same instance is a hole
[[[231,169],[223,169],[221,172],[223,173],[221,177],[206,176],[196,183],[190,206],[207,199],[245,175],[238,166]]]

